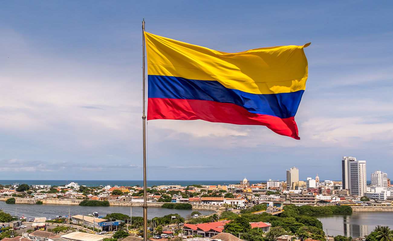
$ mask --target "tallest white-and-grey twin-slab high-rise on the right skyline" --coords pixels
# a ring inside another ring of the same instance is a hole
[[[351,194],[364,196],[367,188],[366,161],[357,161],[351,156],[342,159],[343,189],[349,189]]]

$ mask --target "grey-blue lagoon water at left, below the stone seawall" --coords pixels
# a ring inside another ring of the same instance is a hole
[[[56,216],[68,216],[68,208],[70,208],[70,215],[87,215],[93,212],[98,212],[99,216],[106,216],[108,213],[118,212],[122,214],[130,215],[130,207],[86,207],[78,205],[50,205],[50,204],[6,204],[4,201],[0,201],[0,209],[11,215],[17,216],[24,215],[27,218],[34,217],[47,217],[54,218]],[[149,207],[147,208],[147,216],[149,219],[153,217],[162,217],[168,214],[179,214],[182,217],[187,217],[193,211],[198,211],[201,214],[208,215],[212,210],[178,210],[169,208]],[[143,216],[142,207],[132,207],[132,216]]]

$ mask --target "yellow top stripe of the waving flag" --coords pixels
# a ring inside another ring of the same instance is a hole
[[[145,32],[149,75],[215,80],[253,94],[305,90],[308,64],[303,46],[225,53]]]

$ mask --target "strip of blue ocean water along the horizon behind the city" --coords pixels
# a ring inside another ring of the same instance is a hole
[[[86,187],[98,187],[99,185],[118,185],[118,186],[125,186],[125,187],[133,187],[135,185],[143,186],[143,180],[0,180],[1,185],[10,185],[14,183],[19,184],[27,184],[27,185],[52,185],[52,186],[61,186],[67,183],[76,182],[79,185],[86,185]],[[250,180],[250,183],[266,183],[266,180]],[[160,186],[160,185],[180,185],[180,186],[187,186],[187,185],[230,185],[240,183],[240,180],[233,181],[233,180],[208,180],[208,181],[201,181],[201,180],[148,180],[147,186],[151,187],[153,185]]]

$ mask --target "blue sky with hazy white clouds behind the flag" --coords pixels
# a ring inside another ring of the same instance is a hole
[[[393,174],[391,1],[2,1],[0,179],[142,179],[141,20],[225,52],[305,49],[301,140],[263,126],[148,122],[151,180]]]

